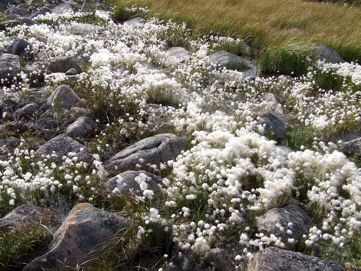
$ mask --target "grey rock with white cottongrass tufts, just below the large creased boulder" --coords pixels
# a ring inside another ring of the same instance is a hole
[[[138,194],[138,195],[143,195],[143,191],[140,189],[140,186],[138,184],[138,182],[135,181],[135,178],[139,176],[139,174],[144,174],[145,177],[144,181],[145,183],[147,183],[149,190],[153,190],[153,192],[156,192],[159,190],[159,186],[158,184],[163,185],[162,182],[162,178],[158,177],[156,175],[153,175],[149,172],[146,172],[144,170],[142,171],[126,171],[123,173],[120,173],[119,176],[121,177],[121,182],[118,184],[117,182],[117,176],[110,178],[106,183],[105,183],[105,188],[113,191],[114,188],[118,188],[119,189],[119,194],[127,194],[130,193],[130,189],[133,191],[132,193],[134,194]]]

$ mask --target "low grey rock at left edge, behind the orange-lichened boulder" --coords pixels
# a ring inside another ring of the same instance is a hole
[[[50,210],[40,208],[32,204],[24,204],[16,207],[9,214],[0,219],[0,230],[5,228],[16,228],[22,224],[51,224],[60,225],[59,218]]]

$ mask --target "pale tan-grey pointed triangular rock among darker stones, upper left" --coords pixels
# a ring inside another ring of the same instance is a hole
[[[48,98],[49,104],[55,103],[60,105],[61,108],[68,109],[80,102],[79,96],[67,85],[58,86]]]

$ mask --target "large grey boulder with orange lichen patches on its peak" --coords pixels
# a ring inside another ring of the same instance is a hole
[[[97,209],[89,203],[79,203],[55,232],[48,253],[29,263],[24,271],[64,270],[65,266],[77,267],[78,263],[91,266],[92,259],[100,256],[94,249],[112,240],[119,230],[126,227],[117,215]]]

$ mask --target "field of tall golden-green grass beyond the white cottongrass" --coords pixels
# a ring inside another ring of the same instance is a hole
[[[267,73],[304,74],[305,57],[315,43],[329,46],[346,61],[361,56],[361,11],[349,6],[298,0],[116,0],[116,14],[133,4],[148,7],[149,17],[185,22],[194,39],[203,35],[243,39]]]

